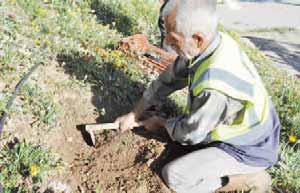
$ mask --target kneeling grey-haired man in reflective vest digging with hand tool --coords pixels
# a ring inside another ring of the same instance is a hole
[[[179,56],[116,122],[123,131],[139,126],[147,108],[188,86],[185,114],[142,122],[148,130],[165,128],[182,145],[206,144],[164,166],[166,184],[178,193],[269,192],[265,169],[278,159],[280,123],[254,65],[218,32],[216,1],[169,0],[161,21],[164,45]]]

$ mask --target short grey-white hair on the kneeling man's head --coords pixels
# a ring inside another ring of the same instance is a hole
[[[176,9],[176,32],[184,37],[201,33],[211,40],[217,32],[216,0],[169,0],[161,15],[166,17]]]

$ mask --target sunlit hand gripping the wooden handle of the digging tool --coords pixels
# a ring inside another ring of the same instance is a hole
[[[131,130],[134,127],[139,127],[140,123],[136,120],[135,114],[130,112],[126,115],[118,117],[115,123],[119,123],[122,132]]]

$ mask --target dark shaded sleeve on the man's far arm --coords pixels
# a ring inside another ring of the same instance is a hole
[[[180,57],[170,64],[168,69],[159,75],[143,94],[149,104],[156,104],[172,92],[187,86],[187,61]]]

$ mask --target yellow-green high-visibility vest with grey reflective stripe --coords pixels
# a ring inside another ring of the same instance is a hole
[[[192,97],[204,89],[213,89],[244,104],[243,113],[234,123],[218,125],[210,134],[211,140],[229,141],[254,128],[255,136],[259,136],[257,132],[264,133],[260,125],[269,112],[267,92],[254,65],[228,35],[222,34],[221,45],[198,66],[189,89]]]

